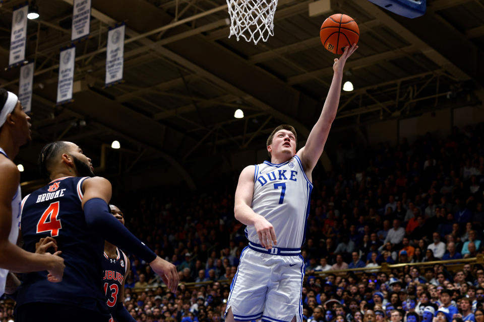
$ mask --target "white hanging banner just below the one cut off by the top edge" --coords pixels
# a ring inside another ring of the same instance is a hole
[[[59,59],[59,81],[57,84],[57,104],[72,100],[75,59],[76,47],[61,51],[61,58]]]

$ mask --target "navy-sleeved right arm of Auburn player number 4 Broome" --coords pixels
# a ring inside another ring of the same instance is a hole
[[[122,250],[136,254],[150,263],[153,271],[160,275],[172,292],[178,287],[179,277],[176,267],[156,256],[141,240],[133,235],[122,223],[109,213],[111,184],[107,179],[94,177],[84,180],[82,207],[89,228],[102,236],[109,243]]]

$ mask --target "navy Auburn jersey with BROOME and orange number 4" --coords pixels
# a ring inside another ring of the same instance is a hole
[[[51,236],[62,251],[66,268],[60,283],[47,281],[47,271],[23,275],[17,305],[66,303],[109,314],[102,289],[104,239],[91,232],[82,209],[87,177],[58,178],[22,200],[24,249],[35,252],[40,238]]]

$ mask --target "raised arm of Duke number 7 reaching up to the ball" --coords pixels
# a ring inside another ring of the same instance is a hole
[[[331,124],[336,117],[336,111],[338,110],[339,96],[341,93],[341,81],[343,79],[343,67],[346,59],[358,48],[355,44],[351,47],[346,47],[346,50],[341,57],[334,59],[333,64],[333,81],[329,88],[328,96],[324,102],[321,115],[314,125],[311,133],[309,134],[306,145],[301,148],[297,155],[301,159],[302,166],[306,173],[311,173],[314,167],[318,163],[318,159],[323,153],[324,144],[328,138]]]

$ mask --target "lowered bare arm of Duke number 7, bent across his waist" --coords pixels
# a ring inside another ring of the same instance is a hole
[[[233,212],[235,219],[245,225],[256,228],[259,244],[269,250],[272,249],[272,243],[277,245],[277,238],[272,224],[263,216],[255,213],[251,208],[254,196],[254,171],[255,166],[249,166],[240,174],[237,189],[235,190]]]

